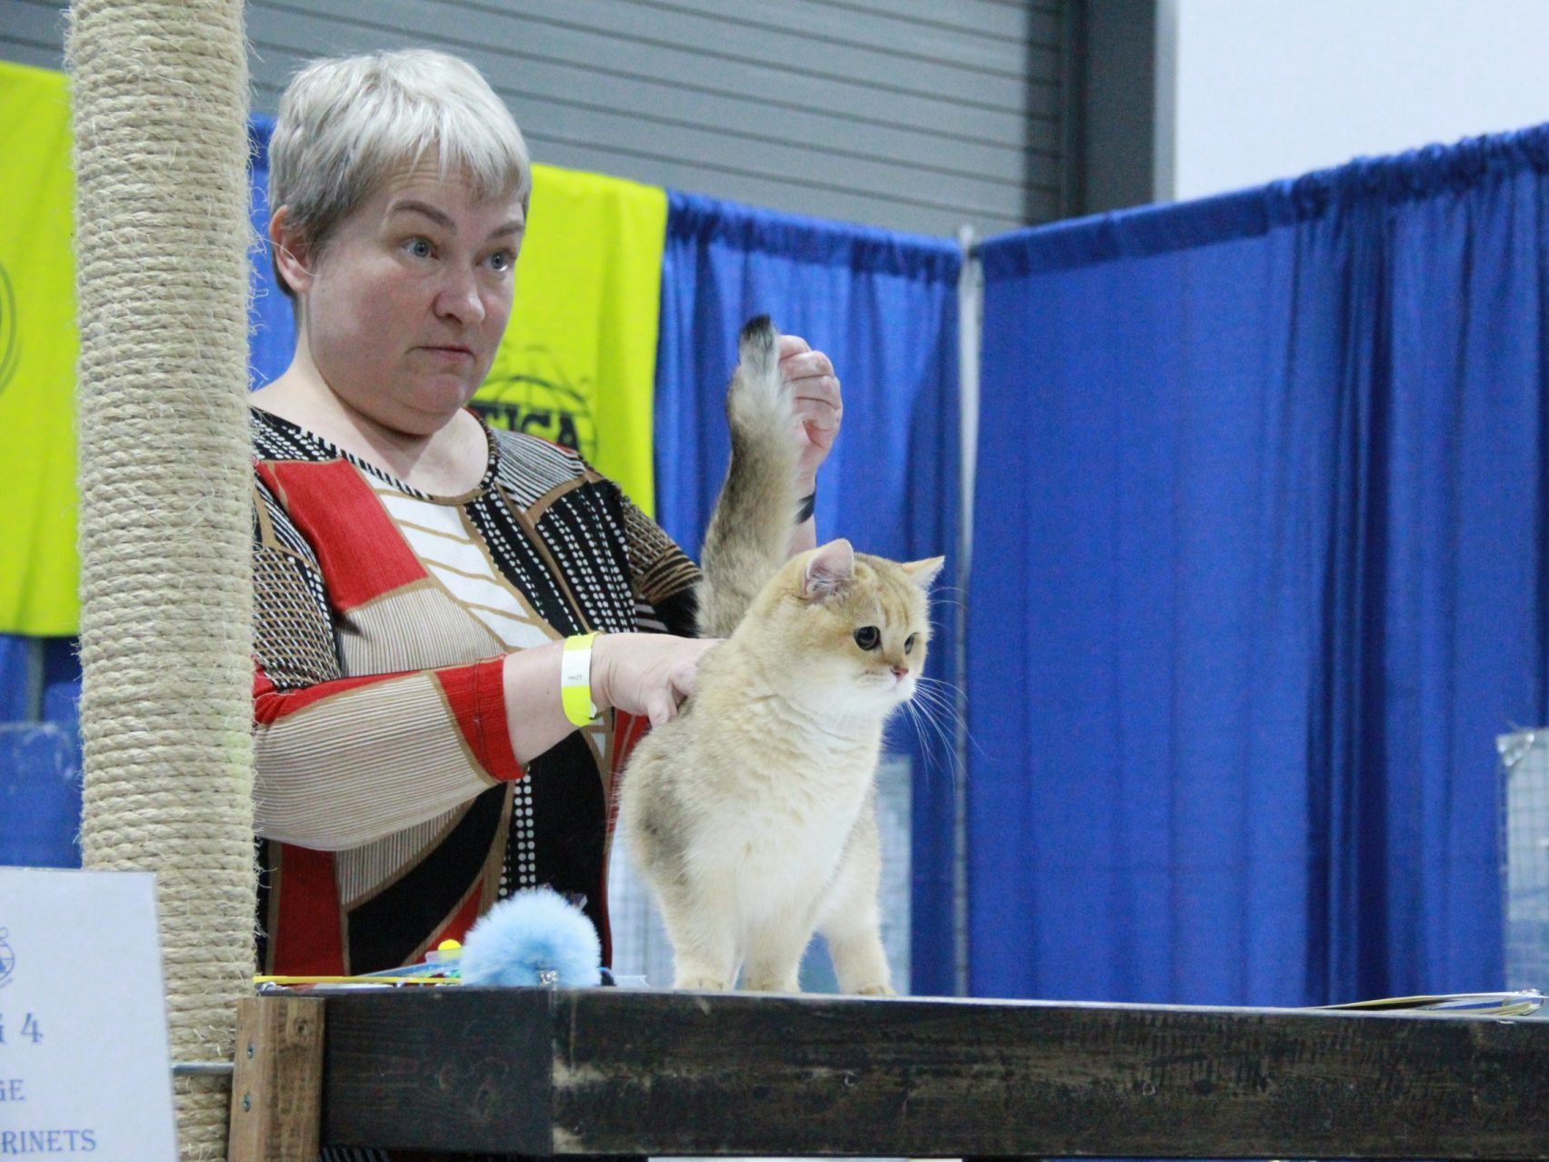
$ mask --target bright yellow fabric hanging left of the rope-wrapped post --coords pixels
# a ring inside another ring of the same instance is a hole
[[[0,632],[74,634],[76,284],[62,73],[0,62]]]

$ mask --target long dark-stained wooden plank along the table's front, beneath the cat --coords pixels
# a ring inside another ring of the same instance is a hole
[[[328,998],[338,1145],[1549,1159],[1549,1023],[640,990]]]

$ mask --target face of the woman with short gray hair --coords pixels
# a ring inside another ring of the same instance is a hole
[[[524,226],[519,198],[476,200],[434,158],[359,205],[296,287],[333,394],[398,432],[446,425],[505,333]]]

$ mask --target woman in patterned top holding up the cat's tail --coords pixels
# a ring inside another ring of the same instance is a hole
[[[539,883],[606,962],[612,773],[714,645],[686,637],[694,566],[617,485],[466,411],[530,183],[454,57],[316,62],[280,102],[270,240],[297,342],[252,395],[265,971],[410,964]],[[838,381],[790,336],[782,369],[805,496]],[[792,548],[815,544],[809,513]]]

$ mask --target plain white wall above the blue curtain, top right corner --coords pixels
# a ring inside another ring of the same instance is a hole
[[[1160,0],[1157,200],[1549,121],[1549,0]]]

